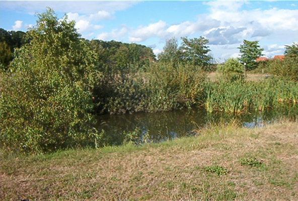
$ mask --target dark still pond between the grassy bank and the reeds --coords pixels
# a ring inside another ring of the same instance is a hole
[[[210,123],[229,123],[236,121],[243,127],[262,127],[281,117],[296,118],[297,107],[270,113],[252,113],[245,115],[209,114],[204,108],[174,110],[162,113],[134,113],[124,115],[98,116],[98,130],[104,130],[106,144],[120,145],[125,140],[136,144],[162,142],[179,137],[193,136],[194,129],[200,129]]]

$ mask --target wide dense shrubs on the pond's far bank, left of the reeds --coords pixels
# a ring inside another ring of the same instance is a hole
[[[169,111],[203,102],[205,74],[192,65],[156,63],[107,79],[96,96],[99,112]]]

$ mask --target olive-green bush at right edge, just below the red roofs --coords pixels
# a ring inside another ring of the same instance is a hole
[[[271,74],[298,81],[298,57],[285,57],[283,60],[274,59],[267,63]]]

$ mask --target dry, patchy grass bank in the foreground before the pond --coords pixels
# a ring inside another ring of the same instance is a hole
[[[200,133],[0,159],[0,200],[298,199],[298,125]]]

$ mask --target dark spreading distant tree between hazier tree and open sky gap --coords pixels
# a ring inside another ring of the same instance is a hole
[[[192,65],[207,67],[210,65],[212,57],[209,52],[211,51],[207,46],[208,40],[204,37],[188,39],[181,38],[182,45],[180,47],[181,59]]]

